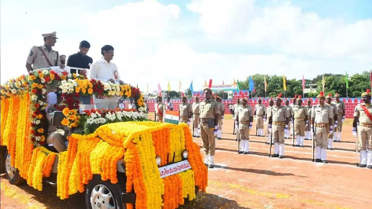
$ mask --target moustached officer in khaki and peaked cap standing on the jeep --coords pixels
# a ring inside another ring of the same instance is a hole
[[[38,70],[40,68],[47,68],[53,66],[60,66],[61,69],[64,65],[61,65],[61,59],[58,51],[54,51],[52,46],[57,42],[56,32],[41,34],[44,38],[44,45],[32,46],[27,60],[26,68],[27,71]]]

